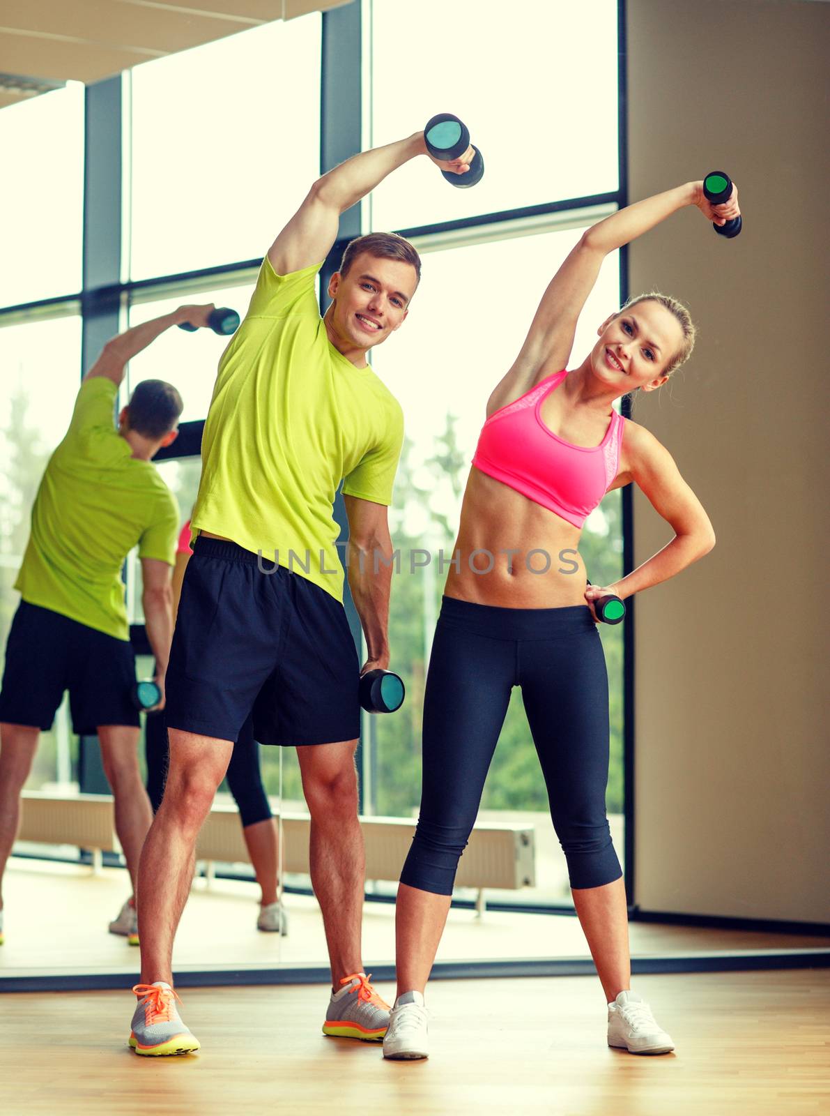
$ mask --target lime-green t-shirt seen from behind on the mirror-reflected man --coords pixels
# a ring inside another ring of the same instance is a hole
[[[31,605],[128,639],[122,565],[137,543],[141,558],[172,566],[178,509],[155,465],[133,458],[116,431],[117,391],[106,376],[80,385],[35,498],[15,588]]]

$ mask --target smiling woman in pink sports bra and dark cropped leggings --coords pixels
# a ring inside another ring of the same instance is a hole
[[[630,990],[626,893],[605,808],[608,681],[592,600],[658,585],[715,543],[669,452],[612,407],[628,393],[657,391],[687,359],[688,311],[663,295],[630,299],[599,326],[591,352],[564,369],[606,256],[686,205],[716,224],[740,212],[736,190],[713,208],[703,183],[689,182],[588,229],[488,402],[430,660],[421,814],[397,896],[398,995],[387,1058],[427,1057],[424,989],[514,685],[606,997],[608,1043],[631,1054],[674,1049]],[[675,537],[615,585],[588,586],[582,525],[607,491],[629,481]]]

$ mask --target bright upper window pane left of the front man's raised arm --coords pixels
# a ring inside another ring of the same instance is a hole
[[[320,17],[137,66],[134,279],[262,257],[319,173]]]

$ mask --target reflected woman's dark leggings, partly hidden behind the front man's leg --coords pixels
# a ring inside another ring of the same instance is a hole
[[[144,735],[144,754],[147,760],[147,795],[153,814],[162,805],[167,781],[170,751],[164,714],[148,716]],[[253,739],[253,723],[249,716],[233,745],[231,762],[225,776],[243,826],[253,826],[272,817],[259,762],[259,744]]]

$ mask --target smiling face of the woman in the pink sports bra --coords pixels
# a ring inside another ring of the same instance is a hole
[[[619,386],[621,393],[641,387],[650,392],[668,378],[668,368],[683,345],[683,328],[659,302],[636,302],[607,319],[591,350],[595,375]]]

